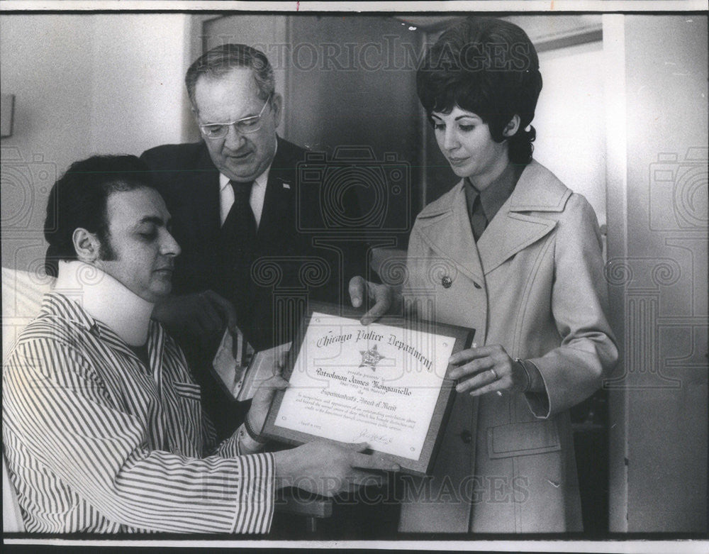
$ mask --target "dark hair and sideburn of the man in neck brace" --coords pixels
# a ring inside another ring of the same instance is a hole
[[[113,192],[154,188],[150,170],[135,156],[92,156],[74,162],[49,193],[44,234],[49,243],[45,271],[57,276],[59,260],[77,260],[72,236],[77,228],[96,233],[101,259],[111,260],[106,202]]]

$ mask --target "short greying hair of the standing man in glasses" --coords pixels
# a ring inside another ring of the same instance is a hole
[[[187,94],[192,106],[196,108],[194,87],[199,77],[203,75],[212,78],[221,77],[239,67],[248,67],[252,70],[259,87],[260,99],[266,101],[273,94],[276,79],[266,55],[245,44],[223,44],[198,57],[187,70],[184,84],[187,87]]]

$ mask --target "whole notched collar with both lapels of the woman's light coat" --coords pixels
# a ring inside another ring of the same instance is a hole
[[[476,282],[556,226],[553,218],[528,212],[560,212],[571,191],[546,167],[532,160],[510,198],[475,243],[467,214],[463,181],[418,216],[423,240]]]

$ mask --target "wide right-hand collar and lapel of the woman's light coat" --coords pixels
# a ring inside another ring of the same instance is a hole
[[[484,272],[488,274],[550,233],[557,221],[530,212],[560,212],[569,196],[571,191],[552,172],[535,161],[527,165],[513,193],[478,241]]]

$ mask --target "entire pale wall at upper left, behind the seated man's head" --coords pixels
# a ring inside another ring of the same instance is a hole
[[[180,13],[0,17],[0,88],[15,95],[0,143],[3,266],[43,258],[49,187],[71,162],[183,140],[188,35]]]

